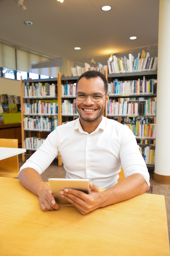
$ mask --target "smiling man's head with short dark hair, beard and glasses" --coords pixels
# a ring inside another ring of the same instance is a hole
[[[81,121],[99,123],[102,120],[108,99],[107,81],[102,73],[87,71],[79,77],[76,90],[76,108]]]

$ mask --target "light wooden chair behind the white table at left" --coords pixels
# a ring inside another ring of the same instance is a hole
[[[18,139],[0,139],[0,147],[18,148]],[[15,178],[18,171],[18,155],[0,160],[0,177]]]

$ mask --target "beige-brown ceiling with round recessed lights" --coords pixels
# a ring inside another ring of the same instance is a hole
[[[0,0],[0,41],[16,48],[76,63],[94,57],[103,65],[110,54],[157,48],[159,0],[24,0],[26,11],[17,2]]]

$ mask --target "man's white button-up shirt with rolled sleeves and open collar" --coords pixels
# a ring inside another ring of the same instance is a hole
[[[102,117],[91,134],[84,132],[79,118],[57,126],[42,146],[20,168],[42,174],[55,157],[62,157],[66,178],[89,179],[99,188],[117,183],[121,166],[125,177],[140,173],[148,186],[149,173],[133,132],[119,122]]]

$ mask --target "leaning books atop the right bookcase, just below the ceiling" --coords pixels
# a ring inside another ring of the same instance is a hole
[[[130,53],[126,56],[117,58],[113,55],[113,61],[108,61],[108,73],[126,73],[157,70],[157,57],[151,57],[149,52],[138,53],[137,57]]]

